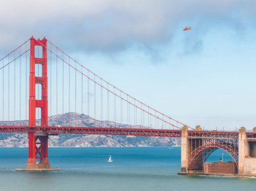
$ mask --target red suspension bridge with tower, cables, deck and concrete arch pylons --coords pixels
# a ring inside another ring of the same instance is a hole
[[[48,139],[59,134],[181,137],[184,172],[201,171],[216,149],[224,149],[245,174],[246,157],[256,151],[256,128],[187,126],[115,87],[46,38],[32,36],[4,56],[0,74],[0,132],[28,133],[24,170],[51,170]],[[86,123],[61,115],[71,112],[87,115]]]

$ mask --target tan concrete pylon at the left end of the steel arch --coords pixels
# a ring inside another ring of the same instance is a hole
[[[181,171],[187,172],[189,158],[188,128],[184,125],[181,130]]]

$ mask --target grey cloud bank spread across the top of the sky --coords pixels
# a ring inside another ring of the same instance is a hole
[[[241,30],[255,5],[238,0],[2,0],[0,47],[13,48],[34,34],[73,51],[116,52],[133,44],[150,48],[166,44],[190,24],[203,31],[218,23]],[[195,34],[185,54],[202,44]]]

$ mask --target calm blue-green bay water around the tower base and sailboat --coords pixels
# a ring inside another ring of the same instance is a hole
[[[51,148],[51,165],[61,171],[15,171],[27,154],[26,148],[0,148],[0,190],[256,190],[256,178],[178,176],[179,147]],[[210,161],[221,156],[216,151]]]

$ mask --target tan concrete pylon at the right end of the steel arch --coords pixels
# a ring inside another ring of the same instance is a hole
[[[238,138],[238,174],[245,173],[245,157],[249,155],[249,147],[245,127],[239,129]]]

